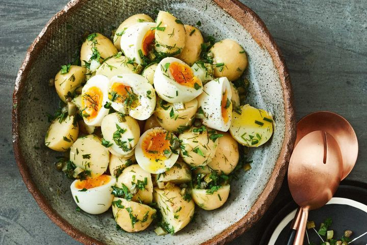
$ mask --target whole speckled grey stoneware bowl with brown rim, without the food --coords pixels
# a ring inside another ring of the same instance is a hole
[[[197,208],[196,218],[174,236],[156,236],[150,228],[140,233],[116,230],[112,212],[87,215],[75,211],[71,181],[55,169],[60,153],[44,145],[46,113],[57,108],[58,96],[47,81],[75,54],[85,32],[110,35],[112,26],[136,13],[155,17],[167,10],[184,23],[200,20],[204,35],[232,38],[245,48],[251,82],[248,103],[270,111],[275,131],[270,142],[251,149],[252,169],[231,183],[226,204],[215,211]],[[38,99],[38,100],[37,100]],[[280,51],[263,21],[235,0],[122,1],[75,0],[57,13],[30,46],[19,69],[13,95],[14,153],[25,184],[53,222],[85,244],[223,244],[250,228],[277,194],[295,140],[295,117],[289,75]]]

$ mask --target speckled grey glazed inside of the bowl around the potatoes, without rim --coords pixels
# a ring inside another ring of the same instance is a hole
[[[226,204],[215,211],[197,208],[194,222],[174,236],[156,236],[150,228],[130,234],[116,230],[112,212],[89,215],[75,210],[70,193],[71,180],[55,169],[55,157],[62,154],[44,146],[48,128],[46,113],[57,108],[58,96],[47,81],[53,78],[60,66],[67,64],[77,51],[85,32],[101,32],[111,35],[125,18],[136,13],[147,13],[153,18],[155,9],[173,13],[182,22],[199,27],[206,35],[217,40],[231,38],[245,48],[249,67],[246,76],[250,80],[247,102],[270,111],[275,118],[273,138],[266,145],[251,149],[248,158],[253,160],[252,169],[243,171],[240,179],[231,184],[230,197]],[[248,31],[211,1],[81,1],[66,14],[49,24],[48,31],[37,44],[40,48],[35,57],[24,88],[20,94],[19,146],[32,180],[44,195],[49,205],[73,227],[106,244],[198,244],[221,233],[237,222],[258,199],[271,176],[281,151],[285,135],[285,106],[283,89],[278,71],[269,52],[260,47]],[[38,149],[39,148],[39,149]]]

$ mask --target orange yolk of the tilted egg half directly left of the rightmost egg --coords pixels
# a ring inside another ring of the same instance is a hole
[[[202,86],[200,79],[194,76],[192,69],[186,64],[172,62],[169,70],[173,79],[183,86],[194,88],[195,83],[197,84],[196,86]]]

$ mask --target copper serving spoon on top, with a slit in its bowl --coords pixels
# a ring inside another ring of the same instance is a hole
[[[301,207],[294,245],[302,245],[308,211],[324,206],[333,196],[343,174],[342,154],[329,133],[314,131],[296,145],[288,168],[288,184]]]

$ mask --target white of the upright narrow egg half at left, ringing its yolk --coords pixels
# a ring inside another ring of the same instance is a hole
[[[108,99],[108,83],[109,83],[109,79],[106,76],[96,75],[96,76],[93,76],[92,78],[90,78],[88,80],[88,82],[84,85],[84,87],[82,89],[82,100],[85,96],[85,93],[91,87],[99,88],[101,90],[102,94],[103,94],[102,103],[100,105],[100,109],[98,111],[97,116],[95,118],[93,118],[92,120],[88,120],[88,117],[83,116],[83,119],[84,119],[84,122],[86,123],[86,125],[100,126],[103,117],[108,115],[109,109],[106,109],[106,108],[103,107],[109,101],[109,99]],[[83,110],[83,108],[81,108],[81,109]]]

